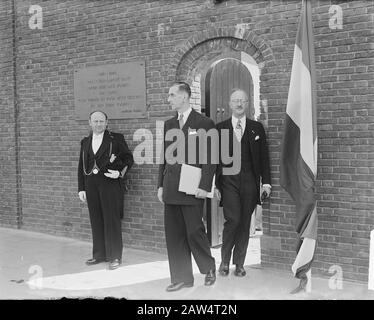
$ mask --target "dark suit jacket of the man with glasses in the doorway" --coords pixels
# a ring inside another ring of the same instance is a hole
[[[217,130],[219,131],[219,137],[221,138],[221,130],[229,130],[229,152],[230,156],[233,153],[233,135],[234,129],[232,127],[231,117],[225,121],[217,124]],[[246,126],[244,134],[249,135],[249,146],[252,161],[252,171],[255,176],[257,186],[257,203],[261,204],[260,201],[260,185],[271,184],[270,181],[270,165],[269,165],[269,151],[266,142],[265,130],[261,122],[250,120],[246,118]],[[221,146],[221,142],[220,142]],[[221,155],[220,149],[220,155]],[[222,170],[224,167],[231,167],[232,164],[223,164],[220,156],[220,163],[217,168],[217,180],[216,187],[222,192],[223,179]],[[250,196],[250,195],[249,195]]]

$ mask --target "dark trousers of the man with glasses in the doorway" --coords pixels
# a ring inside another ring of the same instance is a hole
[[[222,262],[230,263],[232,253],[233,264],[243,266],[251,216],[257,204],[256,181],[251,171],[222,177],[222,204],[226,220],[222,234]]]

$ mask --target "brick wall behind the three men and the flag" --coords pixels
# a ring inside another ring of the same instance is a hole
[[[17,194],[12,84],[11,1],[0,5],[0,223],[15,225]],[[79,141],[86,121],[74,116],[74,70],[144,60],[147,118],[113,120],[132,150],[139,128],[171,115],[168,87],[196,81],[199,68],[227,50],[251,55],[261,70],[261,115],[269,137],[273,194],[264,208],[262,262],[290,269],[295,257],[294,206],[279,187],[279,152],[301,2],[294,1],[43,1],[43,29],[28,27],[33,1],[16,2],[19,161],[23,228],[90,239],[87,209],[77,198]],[[328,27],[331,4],[343,8],[343,29]],[[315,272],[343,268],[365,281],[373,194],[373,6],[370,1],[313,4],[318,76],[318,249]],[[210,48],[210,49],[209,49]],[[194,82],[198,88],[198,82]],[[196,90],[194,101],[200,99]],[[154,148],[155,150],[155,148]],[[4,153],[5,151],[5,153]],[[124,245],[163,251],[157,165],[129,174]],[[5,182],[4,182],[5,181]],[[13,221],[13,222],[12,222]]]

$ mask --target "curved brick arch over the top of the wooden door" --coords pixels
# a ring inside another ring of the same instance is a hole
[[[172,70],[176,80],[193,81],[194,69],[227,51],[243,51],[259,65],[275,64],[273,52],[266,41],[252,30],[240,27],[208,29],[188,38],[175,51]]]

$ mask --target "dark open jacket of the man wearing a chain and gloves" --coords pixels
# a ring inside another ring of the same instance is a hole
[[[84,137],[81,140],[81,149],[78,164],[78,191],[86,190],[86,173],[90,173],[92,166],[89,167],[88,154],[91,152],[91,156],[96,160],[96,164],[99,167],[99,174],[108,172],[107,169],[118,170],[120,172],[121,187],[124,184],[125,167],[127,166],[126,173],[130,170],[134,163],[134,158],[131,151],[129,150],[127,143],[120,133],[104,131],[103,141],[100,145],[99,150],[96,154],[92,151],[92,133],[88,137]],[[112,155],[115,155],[115,160],[111,162]]]

